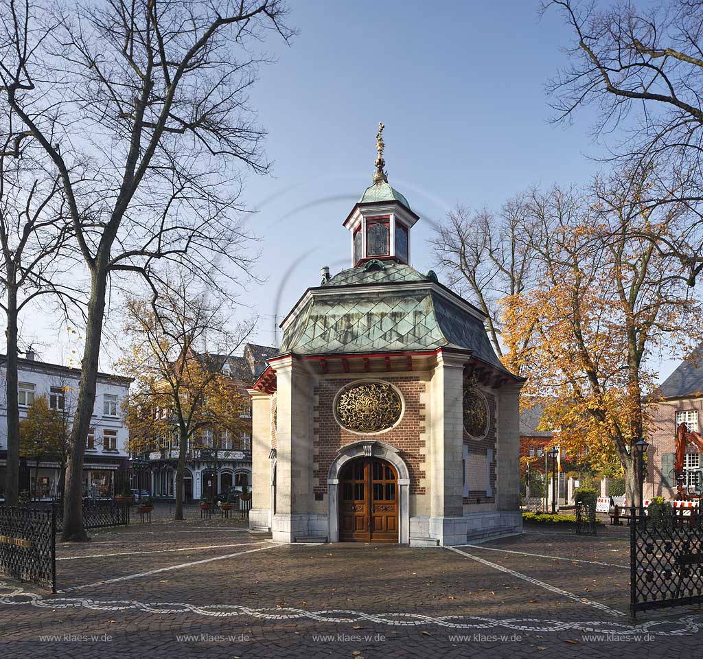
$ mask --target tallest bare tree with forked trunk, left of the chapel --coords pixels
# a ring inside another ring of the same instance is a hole
[[[108,282],[152,282],[160,260],[214,288],[217,273],[249,270],[233,219],[240,167],[269,169],[247,104],[252,46],[266,31],[288,40],[285,13],[280,0],[12,0],[0,18],[0,92],[60,174],[91,280],[63,540],[87,539],[82,468]]]

